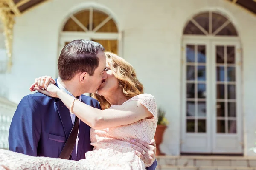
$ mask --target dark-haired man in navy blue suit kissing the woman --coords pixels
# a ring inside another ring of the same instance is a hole
[[[101,109],[96,99],[82,94],[95,92],[102,80],[107,78],[104,51],[102,45],[89,40],[74,40],[67,44],[58,59],[58,88],[87,105]],[[90,76],[85,78],[85,74]],[[12,119],[9,148],[31,156],[58,158],[68,137],[75,134],[73,144],[67,142],[65,145],[65,149],[71,153],[68,158],[76,161],[85,159],[85,153],[93,150],[90,145],[90,127],[82,121],[75,123],[75,119],[76,116],[70,114],[60,99],[41,93],[25,96]],[[76,133],[73,133],[73,127]],[[147,144],[136,139],[133,144],[147,169],[154,170],[157,165],[154,143]]]

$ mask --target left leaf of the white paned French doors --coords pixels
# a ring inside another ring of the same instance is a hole
[[[181,151],[210,152],[209,43],[186,41],[183,44],[183,131]]]

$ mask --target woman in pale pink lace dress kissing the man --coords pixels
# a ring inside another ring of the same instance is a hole
[[[85,154],[86,159],[72,161],[33,157],[0,150],[0,169],[49,166],[52,169],[145,170],[144,162],[129,141],[137,138],[149,143],[154,138],[157,127],[155,99],[143,93],[143,85],[128,62],[113,53],[107,52],[106,56],[108,78],[93,94],[102,110],[86,105],[57,88],[52,78],[39,79],[31,88],[61,99],[71,113],[92,127],[90,138],[94,149]]]

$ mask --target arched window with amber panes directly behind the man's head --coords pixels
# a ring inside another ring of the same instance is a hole
[[[95,8],[70,15],[61,32],[61,47],[75,39],[99,42],[106,51],[118,53],[119,31],[113,17]]]

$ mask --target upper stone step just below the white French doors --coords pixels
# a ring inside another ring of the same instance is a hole
[[[256,157],[244,156],[157,156],[158,165],[181,167],[256,167]]]

